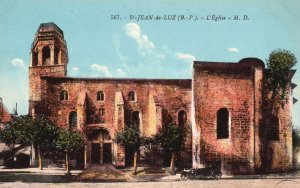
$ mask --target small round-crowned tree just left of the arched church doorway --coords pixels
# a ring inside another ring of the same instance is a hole
[[[79,132],[70,130],[61,130],[56,141],[56,147],[66,153],[66,169],[67,175],[70,175],[69,168],[69,153],[81,148],[84,144],[84,139]]]

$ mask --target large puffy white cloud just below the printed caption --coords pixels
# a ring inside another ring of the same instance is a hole
[[[142,34],[140,26],[136,23],[129,23],[124,26],[126,34],[133,38],[138,44],[138,50],[144,56],[147,51],[155,48],[153,42],[145,34]]]

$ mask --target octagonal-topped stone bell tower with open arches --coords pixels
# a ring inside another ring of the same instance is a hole
[[[67,75],[68,51],[63,31],[55,23],[40,24],[31,44],[29,65],[29,114],[42,100],[43,76]]]

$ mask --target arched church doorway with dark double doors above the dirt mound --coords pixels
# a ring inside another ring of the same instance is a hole
[[[88,135],[90,164],[112,163],[112,139],[105,129],[94,130]]]

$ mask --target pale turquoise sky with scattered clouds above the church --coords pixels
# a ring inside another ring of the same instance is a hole
[[[27,114],[30,47],[41,23],[64,31],[69,76],[191,79],[195,60],[266,62],[286,49],[300,61],[298,7],[299,0],[0,0],[0,97],[10,112],[18,103]],[[293,82],[300,99],[300,71]],[[300,102],[298,127],[299,113]]]

